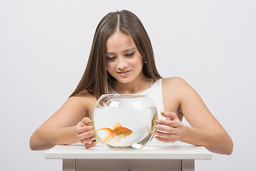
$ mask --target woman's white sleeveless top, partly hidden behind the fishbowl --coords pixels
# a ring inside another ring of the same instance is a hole
[[[109,86],[109,94],[119,94],[116,91],[114,91],[114,89]],[[159,115],[159,119],[161,120],[166,120],[166,118],[164,118],[160,112],[164,111],[164,103],[163,103],[163,93],[162,93],[162,79],[159,79],[158,81],[156,81],[154,83],[153,86],[151,86],[151,88],[145,90],[142,93],[139,94],[143,94],[143,95],[149,95],[149,97],[154,101],[154,104],[156,105],[156,110],[157,113]]]

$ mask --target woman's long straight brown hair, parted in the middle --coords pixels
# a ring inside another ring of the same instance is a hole
[[[106,42],[117,29],[132,36],[139,53],[146,61],[142,68],[144,75],[155,81],[161,78],[156,70],[151,41],[139,18],[127,10],[110,12],[96,28],[85,73],[70,96],[78,95],[82,90],[87,90],[97,98],[108,93],[108,83],[115,78],[105,69]]]

